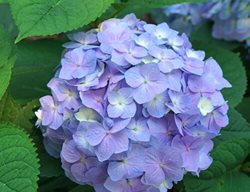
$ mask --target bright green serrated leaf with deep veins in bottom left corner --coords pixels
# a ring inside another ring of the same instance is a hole
[[[39,164],[35,150],[21,129],[0,124],[0,191],[37,191]]]

